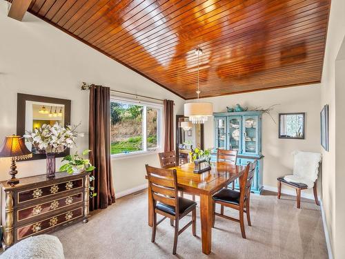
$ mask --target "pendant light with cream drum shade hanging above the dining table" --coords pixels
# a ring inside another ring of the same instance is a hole
[[[184,116],[189,117],[193,124],[204,124],[208,117],[213,115],[213,104],[210,102],[199,102],[199,55],[202,54],[201,48],[195,50],[197,55],[197,102],[184,104]]]

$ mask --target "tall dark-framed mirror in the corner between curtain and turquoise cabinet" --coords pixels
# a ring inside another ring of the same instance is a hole
[[[188,117],[176,115],[176,157],[178,164],[189,162],[188,154],[204,149],[204,124],[193,124]]]

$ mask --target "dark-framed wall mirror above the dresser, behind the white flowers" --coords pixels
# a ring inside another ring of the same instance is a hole
[[[34,128],[40,128],[43,124],[54,125],[59,123],[63,126],[70,124],[70,100],[38,95],[17,94],[17,135],[24,135]],[[32,151],[31,160],[46,159],[44,150],[39,150],[26,142],[26,146]],[[70,154],[67,148],[55,157],[64,157]]]

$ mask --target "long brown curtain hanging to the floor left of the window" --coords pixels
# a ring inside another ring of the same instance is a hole
[[[115,202],[110,160],[110,88],[92,85],[89,113],[90,162],[96,166],[93,175],[97,195],[90,199],[90,211],[106,209]]]

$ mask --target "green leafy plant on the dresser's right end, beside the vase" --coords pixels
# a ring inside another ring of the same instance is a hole
[[[91,151],[86,149],[83,151],[82,155],[88,155]],[[83,171],[93,171],[95,170],[95,166],[92,166],[90,160],[85,159],[76,152],[74,155],[66,155],[63,157],[63,161],[67,161],[67,164],[63,164],[59,171],[67,171],[67,173],[72,173],[73,175],[77,175],[79,173],[83,173]]]

